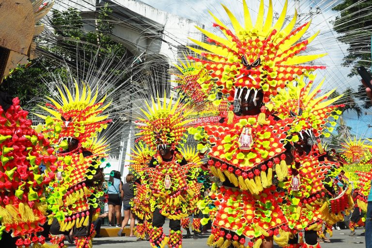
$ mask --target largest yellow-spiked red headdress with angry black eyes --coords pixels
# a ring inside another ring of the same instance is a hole
[[[222,6],[228,14],[235,32],[210,13],[216,21],[214,26],[218,27],[225,37],[197,27],[208,37],[208,43],[190,38],[205,50],[192,47],[189,49],[206,58],[206,60],[193,59],[202,62],[205,68],[210,71],[212,78],[218,79],[217,85],[222,86],[222,93],[228,95],[230,101],[242,93],[239,88],[246,87],[249,91],[254,90],[255,95],[257,90],[262,89],[263,103],[266,103],[269,101],[270,95],[276,95],[278,88],[284,88],[286,83],[293,81],[296,76],[309,76],[311,71],[324,68],[324,66],[310,66],[304,63],[311,62],[325,54],[299,55],[301,51],[306,50],[307,45],[319,33],[298,42],[308,30],[310,22],[294,28],[297,18],[295,11],[289,24],[282,27],[287,12],[287,1],[274,26],[272,26],[273,5],[271,0],[264,23],[264,4],[261,0],[254,26],[245,0],[243,0],[244,27],[228,8]]]

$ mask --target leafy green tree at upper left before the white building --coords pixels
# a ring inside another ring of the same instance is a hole
[[[112,38],[114,27],[110,21],[111,12],[107,4],[102,6],[96,20],[95,31],[84,32],[83,20],[78,10],[72,8],[62,12],[53,10],[50,23],[55,36],[44,35],[39,38],[40,56],[32,60],[30,66],[18,66],[3,81],[0,89],[18,97],[22,107],[32,110],[37,102],[50,94],[51,89],[46,82],[53,82],[56,78],[62,80],[68,78],[67,70],[63,66],[65,63],[71,65],[72,69],[83,69],[78,66],[84,66],[84,63],[76,63],[78,59],[82,59],[77,58],[77,54],[84,54],[85,65],[95,59],[97,68],[105,63],[107,57],[123,58],[126,55],[126,48]],[[112,73],[112,70],[109,73]],[[114,73],[119,74],[120,71]]]

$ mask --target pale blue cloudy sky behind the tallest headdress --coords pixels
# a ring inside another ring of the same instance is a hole
[[[220,3],[225,4],[238,18],[243,19],[242,1],[241,0],[142,0],[143,2],[170,12],[172,14],[186,17],[192,20],[196,20],[205,25],[205,28],[211,26],[213,19],[207,13],[207,10],[212,11],[217,17],[222,20],[227,20],[227,15],[221,7]],[[339,43],[336,39],[337,33],[332,32],[332,24],[330,23],[338,13],[331,10],[331,8],[342,0],[301,0],[300,5],[296,5],[300,17],[297,20],[301,20],[301,24],[309,21],[312,18],[312,24],[308,31],[309,35],[316,33],[320,30],[318,37],[310,44],[309,48],[313,50],[313,53],[328,52],[328,55],[319,60],[319,63],[326,65],[327,69],[317,72],[317,80],[320,82],[323,77],[326,79],[323,91],[329,91],[332,88],[337,88],[338,91],[342,91],[346,87],[357,88],[360,80],[358,77],[348,78],[347,74],[350,68],[341,66],[342,58],[347,54],[347,46]],[[259,0],[247,0],[248,6],[251,10],[251,18],[255,20],[257,16],[257,10],[259,8]],[[274,11],[280,12],[284,3],[284,0],[273,0]],[[265,0],[267,6],[268,0]],[[294,0],[288,1],[287,15],[293,15],[294,13]],[[310,15],[311,11],[315,11],[316,7],[320,7],[320,12]],[[266,8],[267,9],[267,8]],[[314,51],[316,50],[316,51]],[[365,110],[366,112],[372,112],[372,110]],[[365,112],[363,111],[363,112]],[[361,137],[372,137],[372,129],[368,128],[369,124],[372,124],[372,115],[362,116],[357,119],[355,113],[345,113],[343,115],[344,120],[348,126],[352,127],[352,133]]]

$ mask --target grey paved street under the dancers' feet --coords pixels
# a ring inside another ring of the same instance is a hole
[[[167,225],[168,223],[166,223]],[[165,225],[165,226],[166,226]],[[356,230],[356,236],[350,237],[349,230],[334,230],[331,243],[322,243],[322,248],[365,248],[364,236],[359,234],[363,232],[362,229]],[[168,230],[166,230],[168,233]],[[329,236],[329,235],[328,235]],[[204,235],[197,240],[184,239],[183,248],[207,248],[206,245],[208,235]],[[74,247],[69,245],[69,247]],[[109,237],[109,238],[96,238],[93,241],[93,248],[150,248],[147,241],[136,241],[136,238],[129,237]],[[277,246],[276,246],[277,247]]]

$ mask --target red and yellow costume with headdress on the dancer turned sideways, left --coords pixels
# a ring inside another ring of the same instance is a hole
[[[45,119],[44,131],[50,133],[50,141],[58,151],[58,169],[50,182],[47,195],[50,222],[62,233],[74,229],[73,235],[78,248],[92,247],[94,236],[92,221],[99,215],[98,198],[104,195],[96,175],[99,165],[107,156],[107,144],[97,134],[107,127],[107,115],[102,112],[109,106],[105,98],[97,99],[98,89],[92,95],[85,83],[75,83],[75,96],[63,85],[58,88],[60,100],[47,98],[51,103],[40,106],[51,116],[37,116]],[[81,95],[80,95],[81,92]],[[71,148],[70,145],[76,147]],[[103,179],[103,178],[102,178]],[[62,239],[63,240],[63,239]],[[60,238],[53,239],[63,247]]]

